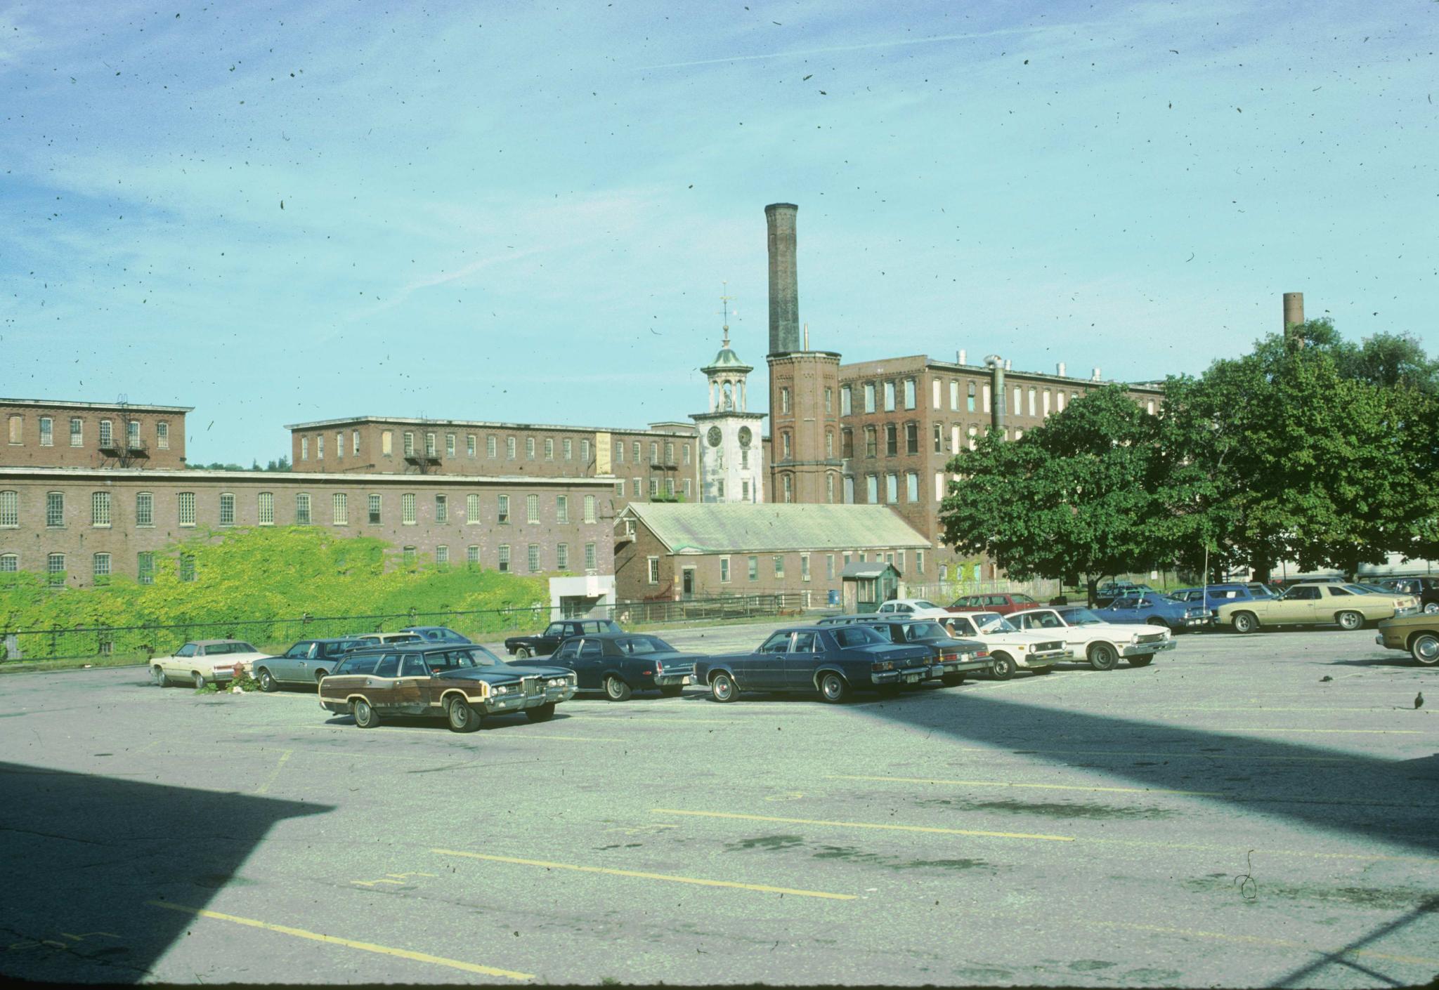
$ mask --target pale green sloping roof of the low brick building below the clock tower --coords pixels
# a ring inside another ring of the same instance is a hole
[[[885,505],[630,502],[627,514],[676,554],[930,545]]]

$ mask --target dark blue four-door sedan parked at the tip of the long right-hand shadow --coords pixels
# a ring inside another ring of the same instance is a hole
[[[741,691],[817,691],[839,704],[853,691],[920,684],[931,655],[924,643],[891,643],[863,626],[796,626],[770,633],[753,653],[696,659],[695,682],[720,702]]]

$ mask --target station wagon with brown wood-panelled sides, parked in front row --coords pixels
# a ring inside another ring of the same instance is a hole
[[[361,649],[319,682],[319,707],[354,715],[360,728],[374,728],[387,715],[443,718],[455,732],[473,732],[486,717],[511,712],[543,722],[573,696],[574,671],[514,666],[478,645]]]

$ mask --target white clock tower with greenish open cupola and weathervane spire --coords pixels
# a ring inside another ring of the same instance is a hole
[[[724,302],[724,344],[699,368],[709,380],[709,412],[694,413],[699,429],[699,492],[704,502],[763,502],[764,413],[745,412],[745,377],[753,367],[730,350],[730,296]]]

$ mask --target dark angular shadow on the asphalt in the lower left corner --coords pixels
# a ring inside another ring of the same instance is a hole
[[[330,810],[0,763],[0,973],[138,983],[194,924],[178,908],[245,884],[240,865],[278,823]]]

